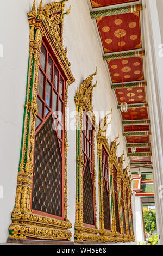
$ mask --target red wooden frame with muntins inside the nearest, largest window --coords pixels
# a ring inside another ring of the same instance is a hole
[[[42,58],[43,58],[43,50],[45,50],[45,65],[42,66]],[[49,72],[49,64],[52,64],[52,70]],[[56,77],[54,77],[55,74],[58,74],[58,81],[56,82]],[[43,84],[41,88],[41,76],[43,77]],[[51,77],[50,77],[51,76]],[[62,86],[61,86],[62,81]],[[62,90],[61,88],[62,87]],[[41,46],[41,53],[40,53],[40,66],[39,66],[39,79],[38,79],[38,89],[37,89],[37,107],[39,109],[39,103],[42,104],[42,111],[40,111],[37,114],[36,118],[36,126],[35,126],[35,136],[37,132],[41,129],[43,124],[46,123],[47,119],[52,115],[53,117],[53,125],[54,125],[54,132],[56,132],[59,149],[61,153],[61,159],[62,159],[62,170],[61,170],[61,198],[62,198],[62,216],[56,216],[52,214],[47,214],[46,212],[33,210],[32,212],[35,214],[47,216],[47,217],[55,217],[59,220],[64,220],[64,144],[65,144],[65,87],[66,87],[66,77],[63,74],[60,65],[51,49],[51,46],[49,46],[47,40],[45,38],[42,39],[42,46]],[[47,90],[47,88],[51,88],[50,90]],[[42,90],[42,92],[41,92]],[[50,93],[50,97],[48,99],[48,94]],[[46,109],[48,113],[46,113]],[[59,112],[60,111],[60,114]],[[62,112],[62,115],[61,115]],[[40,123],[38,123],[38,120]],[[60,128],[59,128],[60,127]],[[32,197],[31,202],[32,206]]]

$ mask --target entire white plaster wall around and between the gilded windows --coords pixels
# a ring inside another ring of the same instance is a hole
[[[36,4],[39,4],[39,0]],[[53,2],[43,0],[43,5]],[[4,198],[0,199],[0,243],[8,237],[8,227],[11,223],[10,212],[15,203],[16,179],[20,145],[24,100],[26,93],[29,25],[27,13],[31,10],[33,0],[2,1],[0,9],[0,44],[4,47],[4,57],[0,57],[1,76],[1,176],[0,186],[4,189]],[[98,69],[98,86],[94,89],[93,105],[95,111],[110,111],[112,107],[111,136],[109,143],[120,133],[120,147],[117,154],[126,154],[126,143],[122,137],[122,123],[117,110],[117,103],[110,88],[108,72],[102,59],[101,49],[97,40],[95,27],[90,17],[86,0],[70,0],[65,9],[71,4],[70,15],[65,15],[64,46],[67,46],[67,56],[71,70],[76,79],[68,90],[69,111],[75,110],[74,96],[77,87],[83,80]],[[6,14],[8,19],[6,19]],[[98,120],[97,120],[98,123]],[[75,186],[76,186],[76,133],[68,131],[68,218],[73,224],[74,233]],[[126,157],[127,158],[127,157]],[[97,144],[95,139],[95,164],[97,173]],[[126,167],[127,162],[124,163]],[[96,180],[97,220],[99,220],[98,180]],[[99,227],[99,221],[98,221]],[[72,236],[73,239],[73,236]]]

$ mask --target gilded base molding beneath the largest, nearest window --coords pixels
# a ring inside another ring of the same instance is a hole
[[[72,227],[70,222],[44,217],[31,212],[13,212],[9,227],[9,239],[69,240]]]

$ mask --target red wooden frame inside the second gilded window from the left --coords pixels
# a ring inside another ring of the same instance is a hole
[[[93,214],[94,225],[86,224],[86,227],[95,228],[95,197],[94,197],[94,166],[93,166],[93,132],[95,128],[92,125],[86,111],[83,110],[83,124],[82,124],[82,154],[83,154],[83,175],[85,172],[87,161],[89,161],[90,173],[93,187]]]

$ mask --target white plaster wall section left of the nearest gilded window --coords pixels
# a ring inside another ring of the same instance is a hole
[[[28,10],[28,1],[1,2],[0,44],[3,45],[3,57],[0,57],[0,185],[3,186],[3,199],[0,199],[1,243],[7,240],[11,222],[10,212],[15,203],[27,81]]]

